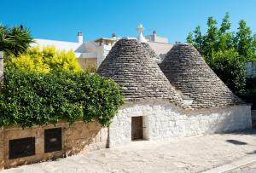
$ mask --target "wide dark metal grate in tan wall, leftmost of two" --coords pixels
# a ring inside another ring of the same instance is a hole
[[[35,155],[35,137],[9,140],[9,159]]]

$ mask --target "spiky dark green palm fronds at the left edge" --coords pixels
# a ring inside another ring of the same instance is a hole
[[[0,24],[0,51],[6,55],[20,55],[33,43],[31,33],[21,26],[7,27]]]

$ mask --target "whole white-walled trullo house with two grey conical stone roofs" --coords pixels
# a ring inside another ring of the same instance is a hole
[[[179,81],[169,78],[170,83],[166,78],[170,72],[166,71],[189,62],[168,65],[166,59],[160,65],[163,69],[166,67],[165,76],[142,43],[135,39],[120,39],[114,44],[97,71],[104,77],[113,78],[122,87],[126,100],[109,127],[109,147],[138,139],[166,140],[251,126],[250,106],[226,88],[194,49],[193,54],[187,48],[180,51],[184,51],[184,57],[189,57],[190,61],[195,61],[196,56],[197,61],[192,64],[210,76],[208,83],[204,84],[201,73],[197,74],[192,67],[174,74],[181,82],[187,80],[188,85],[178,85]],[[171,55],[172,50],[166,58]],[[202,92],[196,88],[197,84],[203,86]]]

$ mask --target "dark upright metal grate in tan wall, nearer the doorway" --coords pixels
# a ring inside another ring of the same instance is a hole
[[[44,153],[60,151],[62,149],[61,128],[44,130]]]

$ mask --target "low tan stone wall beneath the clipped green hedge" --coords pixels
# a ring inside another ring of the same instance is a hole
[[[52,128],[61,128],[62,150],[44,153],[44,130]],[[89,124],[76,122],[72,125],[61,122],[55,126],[49,124],[25,129],[5,127],[0,129],[0,137],[0,170],[108,147],[108,128],[102,128],[102,125],[97,122]],[[35,137],[35,155],[9,159],[9,140],[26,137]]]

